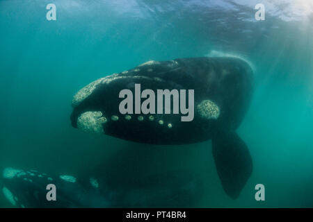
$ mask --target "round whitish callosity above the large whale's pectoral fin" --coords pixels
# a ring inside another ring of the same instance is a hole
[[[218,117],[220,116],[220,108],[218,108],[218,105],[216,105],[216,103],[210,100],[202,101],[197,106],[197,109],[200,117],[204,119],[218,119]]]

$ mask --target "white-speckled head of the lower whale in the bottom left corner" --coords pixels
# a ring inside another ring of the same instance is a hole
[[[7,167],[0,181],[3,196],[13,207],[109,207],[111,203],[96,178],[82,182],[74,176],[52,177]]]

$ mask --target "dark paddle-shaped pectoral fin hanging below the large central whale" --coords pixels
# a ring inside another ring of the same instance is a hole
[[[236,133],[220,133],[212,139],[212,153],[226,194],[238,198],[252,173],[248,147]]]

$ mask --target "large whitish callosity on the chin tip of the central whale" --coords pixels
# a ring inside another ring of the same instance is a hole
[[[77,119],[77,128],[87,133],[104,133],[102,124],[106,123],[106,117],[102,117],[102,112],[83,112]]]

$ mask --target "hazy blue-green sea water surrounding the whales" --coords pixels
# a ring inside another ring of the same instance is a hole
[[[188,172],[203,184],[190,207],[313,207],[313,6],[263,2],[266,19],[257,22],[259,2],[248,0],[1,0],[0,169],[84,176],[101,165],[126,190],[134,178]],[[47,3],[56,21],[47,21]],[[147,60],[230,55],[255,71],[237,130],[254,168],[236,200],[220,185],[210,141],[151,146],[70,125],[72,96],[97,78]],[[258,183],[265,201],[255,200]],[[11,207],[2,194],[0,207]]]

